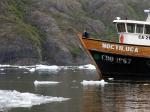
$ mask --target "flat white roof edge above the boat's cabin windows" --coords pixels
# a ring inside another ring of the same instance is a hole
[[[136,21],[136,20],[114,20],[113,23],[133,23],[133,24],[150,25],[150,22],[147,22],[147,21]]]

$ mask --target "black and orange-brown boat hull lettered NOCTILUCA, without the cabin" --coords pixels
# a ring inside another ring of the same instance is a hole
[[[120,76],[120,74],[140,76],[150,73],[149,46],[85,38],[82,37],[81,33],[78,34],[78,37],[94,65],[96,65],[101,78]]]

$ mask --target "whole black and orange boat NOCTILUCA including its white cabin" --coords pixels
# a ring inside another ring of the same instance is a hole
[[[78,34],[103,78],[150,77],[150,10],[145,21],[116,17],[118,42]]]

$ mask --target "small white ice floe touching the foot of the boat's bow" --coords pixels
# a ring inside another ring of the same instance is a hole
[[[86,81],[86,80],[83,80],[81,82],[82,85],[84,86],[87,86],[87,85],[105,85],[105,84],[108,84],[108,82],[105,82],[104,80],[101,80],[101,81]]]

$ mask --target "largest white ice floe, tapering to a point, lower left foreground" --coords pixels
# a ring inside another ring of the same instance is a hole
[[[16,107],[29,108],[52,102],[67,101],[69,98],[43,96],[33,93],[21,93],[16,90],[0,90],[0,111],[9,110]]]

